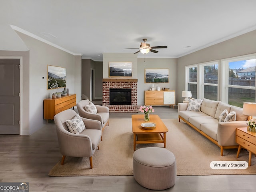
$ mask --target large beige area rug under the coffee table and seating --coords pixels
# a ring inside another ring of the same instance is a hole
[[[256,158],[252,156],[252,166],[246,170],[216,170],[210,168],[212,161],[246,161],[248,152],[241,150],[236,158],[237,149],[224,150],[177,119],[163,119],[168,128],[166,148],[176,157],[177,175],[219,175],[219,174],[256,174]],[[49,176],[113,176],[132,175],[133,134],[131,119],[110,119],[103,132],[100,150],[93,155],[93,169],[89,158],[66,157],[64,165],[58,162]],[[137,144],[138,148],[163,147],[163,144]]]

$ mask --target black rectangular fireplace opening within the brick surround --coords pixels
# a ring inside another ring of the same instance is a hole
[[[131,105],[132,89],[109,89],[110,105]]]

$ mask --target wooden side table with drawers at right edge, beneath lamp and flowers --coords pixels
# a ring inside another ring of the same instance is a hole
[[[241,148],[249,151],[249,162],[251,166],[252,153],[256,156],[256,133],[247,131],[247,127],[236,128],[236,142],[239,144],[236,158],[238,158]]]

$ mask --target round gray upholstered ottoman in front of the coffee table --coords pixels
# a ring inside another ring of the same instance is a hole
[[[165,148],[147,147],[133,154],[134,179],[143,187],[164,190],[174,186],[176,180],[176,159]]]

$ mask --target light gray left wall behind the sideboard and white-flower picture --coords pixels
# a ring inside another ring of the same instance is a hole
[[[63,88],[47,90],[47,65],[66,68],[66,88],[81,98],[81,56],[74,56],[30,36],[17,32],[30,50],[29,58],[29,133],[32,134],[44,126],[43,100],[51,97],[53,92],[62,92]]]

